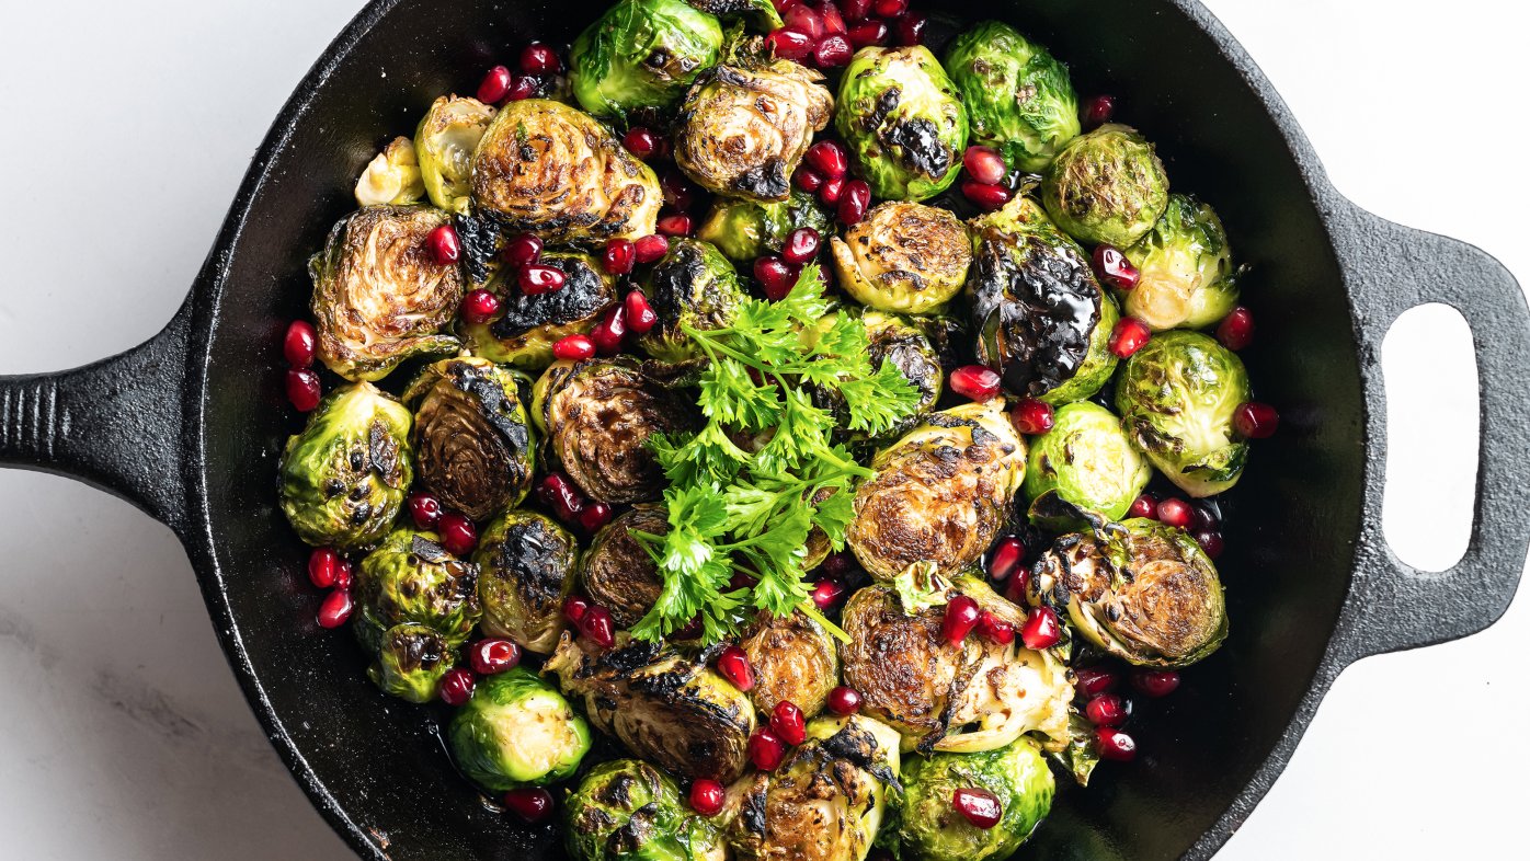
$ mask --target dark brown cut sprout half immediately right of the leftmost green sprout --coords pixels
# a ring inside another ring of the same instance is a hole
[[[464,356],[427,367],[404,393],[415,408],[421,483],[473,520],[519,505],[531,489],[523,382],[491,361]]]

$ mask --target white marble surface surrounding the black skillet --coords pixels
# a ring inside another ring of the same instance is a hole
[[[0,24],[0,372],[57,370],[170,318],[271,116],[356,0],[54,0]],[[1209,0],[1340,190],[1530,278],[1522,32],[1495,0]],[[1403,330],[1406,329],[1406,332]],[[1473,398],[1449,314],[1394,333],[1389,532],[1464,546]],[[1431,340],[1426,340],[1429,336]],[[1457,445],[1441,456],[1437,440]],[[0,833],[9,858],[344,858],[266,745],[167,529],[0,473]],[[1222,858],[1504,856],[1530,774],[1530,599],[1489,633],[1362,662]]]

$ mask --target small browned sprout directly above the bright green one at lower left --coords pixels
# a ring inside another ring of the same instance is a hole
[[[551,517],[506,511],[479,535],[483,633],[549,655],[566,627],[563,599],[574,592],[578,541]]]

